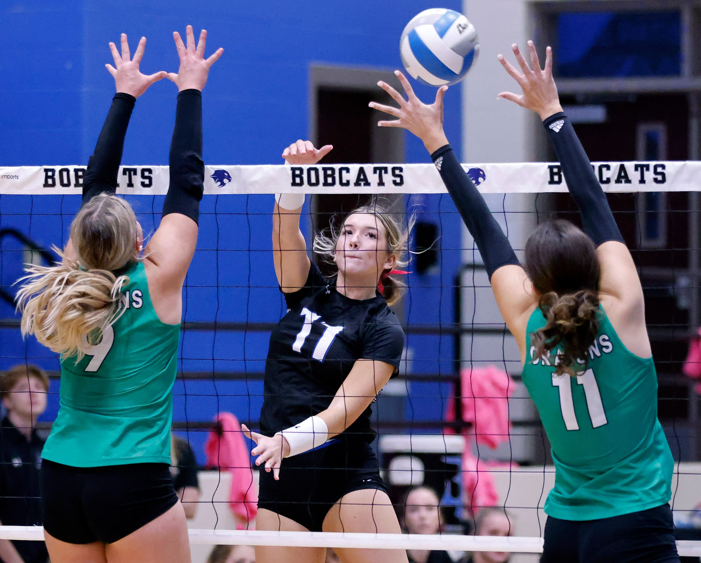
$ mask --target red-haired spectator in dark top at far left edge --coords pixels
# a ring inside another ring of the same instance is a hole
[[[41,526],[39,471],[44,440],[36,419],[46,409],[48,375],[32,365],[15,366],[0,377],[7,414],[0,423],[0,523]],[[5,563],[46,563],[43,541],[0,540]]]

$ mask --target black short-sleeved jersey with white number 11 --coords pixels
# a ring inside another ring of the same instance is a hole
[[[389,363],[396,374],[404,348],[399,319],[379,293],[343,296],[314,264],[304,287],[284,295],[287,314],[271,334],[265,368],[260,425],[266,436],[327,409],[358,359]],[[346,434],[372,442],[371,413],[367,408]]]

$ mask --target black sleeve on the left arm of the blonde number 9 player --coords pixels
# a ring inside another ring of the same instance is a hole
[[[112,98],[112,106],[102,125],[95,152],[88,160],[88,169],[83,180],[83,204],[100,193],[116,192],[124,137],[135,102],[135,97],[123,92],[117,92]]]

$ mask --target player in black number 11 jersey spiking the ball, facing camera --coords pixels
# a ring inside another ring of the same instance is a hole
[[[285,149],[290,164],[314,164],[331,150],[309,141]],[[388,273],[407,240],[373,205],[348,215],[315,251],[336,263],[325,277],[299,230],[304,195],[275,197],[273,255],[287,314],[271,335],[257,446],[256,528],[400,533],[371,443],[370,403],[399,367],[404,332],[388,303]],[[381,284],[383,294],[378,291]],[[247,429],[244,426],[244,430]],[[258,547],[259,563],[323,562],[325,548]],[[336,549],[344,563],[406,562],[403,550]]]

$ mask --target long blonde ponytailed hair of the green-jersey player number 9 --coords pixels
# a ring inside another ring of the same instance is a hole
[[[99,343],[103,331],[128,307],[121,290],[129,277],[111,270],[135,260],[138,234],[128,202],[111,194],[93,197],[71,225],[78,260],[54,248],[62,263],[33,265],[20,280],[22,335],[33,334],[53,352],[81,360],[86,345]]]

